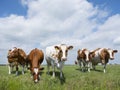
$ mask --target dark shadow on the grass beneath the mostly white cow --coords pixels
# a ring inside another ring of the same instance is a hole
[[[48,72],[46,72],[46,74],[48,74]],[[53,71],[50,71],[48,75],[50,75],[51,77],[53,74]],[[60,81],[60,84],[63,85],[66,82],[66,78],[64,77],[64,73],[62,73],[63,77],[60,78],[60,72],[59,71],[55,71],[55,78],[58,78]]]

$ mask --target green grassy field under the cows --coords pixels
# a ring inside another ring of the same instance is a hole
[[[108,65],[107,72],[97,66],[97,71],[81,72],[78,66],[66,65],[63,68],[64,79],[47,75],[47,68],[41,72],[41,80],[34,83],[30,72],[16,76],[15,72],[8,75],[8,67],[0,66],[0,90],[120,90],[120,65]]]

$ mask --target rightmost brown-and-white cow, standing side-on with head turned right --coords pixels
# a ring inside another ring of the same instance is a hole
[[[95,69],[95,66],[98,63],[101,63],[104,67],[104,73],[106,72],[106,65],[109,62],[109,60],[114,60],[114,53],[117,53],[118,50],[113,50],[110,48],[97,48],[96,50],[91,52],[91,62],[92,67]]]

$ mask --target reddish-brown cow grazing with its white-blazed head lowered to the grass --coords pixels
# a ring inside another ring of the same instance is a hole
[[[43,70],[44,68],[41,68],[41,64],[44,60],[44,53],[42,50],[39,50],[37,48],[30,51],[30,53],[27,56],[27,61],[30,64],[31,75],[33,77],[33,80],[35,83],[37,83],[40,79],[40,70]]]

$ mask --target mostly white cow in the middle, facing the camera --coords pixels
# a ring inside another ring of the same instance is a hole
[[[46,62],[49,74],[50,66],[53,67],[52,76],[55,77],[55,67],[60,70],[60,79],[63,78],[62,68],[65,61],[67,61],[68,50],[71,50],[73,46],[67,46],[66,44],[53,45],[46,48]]]

